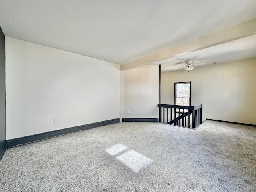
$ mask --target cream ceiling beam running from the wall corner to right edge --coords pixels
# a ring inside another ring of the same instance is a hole
[[[203,36],[201,38],[198,38],[197,40],[193,40],[188,43],[184,43],[173,48],[151,54],[138,60],[128,62],[121,65],[121,70],[128,70],[130,68],[135,68],[146,64],[152,64],[154,62],[172,58],[174,56],[202,50],[219,44],[231,42],[240,38],[245,38],[254,34],[256,34],[256,18],[226,28],[224,30],[220,30],[218,32]]]

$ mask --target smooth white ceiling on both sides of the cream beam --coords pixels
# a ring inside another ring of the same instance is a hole
[[[0,26],[6,36],[126,64],[252,20],[255,10],[255,0],[0,0]],[[156,64],[255,57],[256,37],[248,38],[254,45],[237,40],[235,49],[219,45]]]

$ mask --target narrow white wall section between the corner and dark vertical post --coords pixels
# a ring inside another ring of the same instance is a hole
[[[121,120],[123,117],[158,118],[158,65],[121,71],[120,85]]]

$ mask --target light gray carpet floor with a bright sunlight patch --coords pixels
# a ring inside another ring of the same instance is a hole
[[[122,122],[6,150],[3,192],[256,191],[256,128]]]

